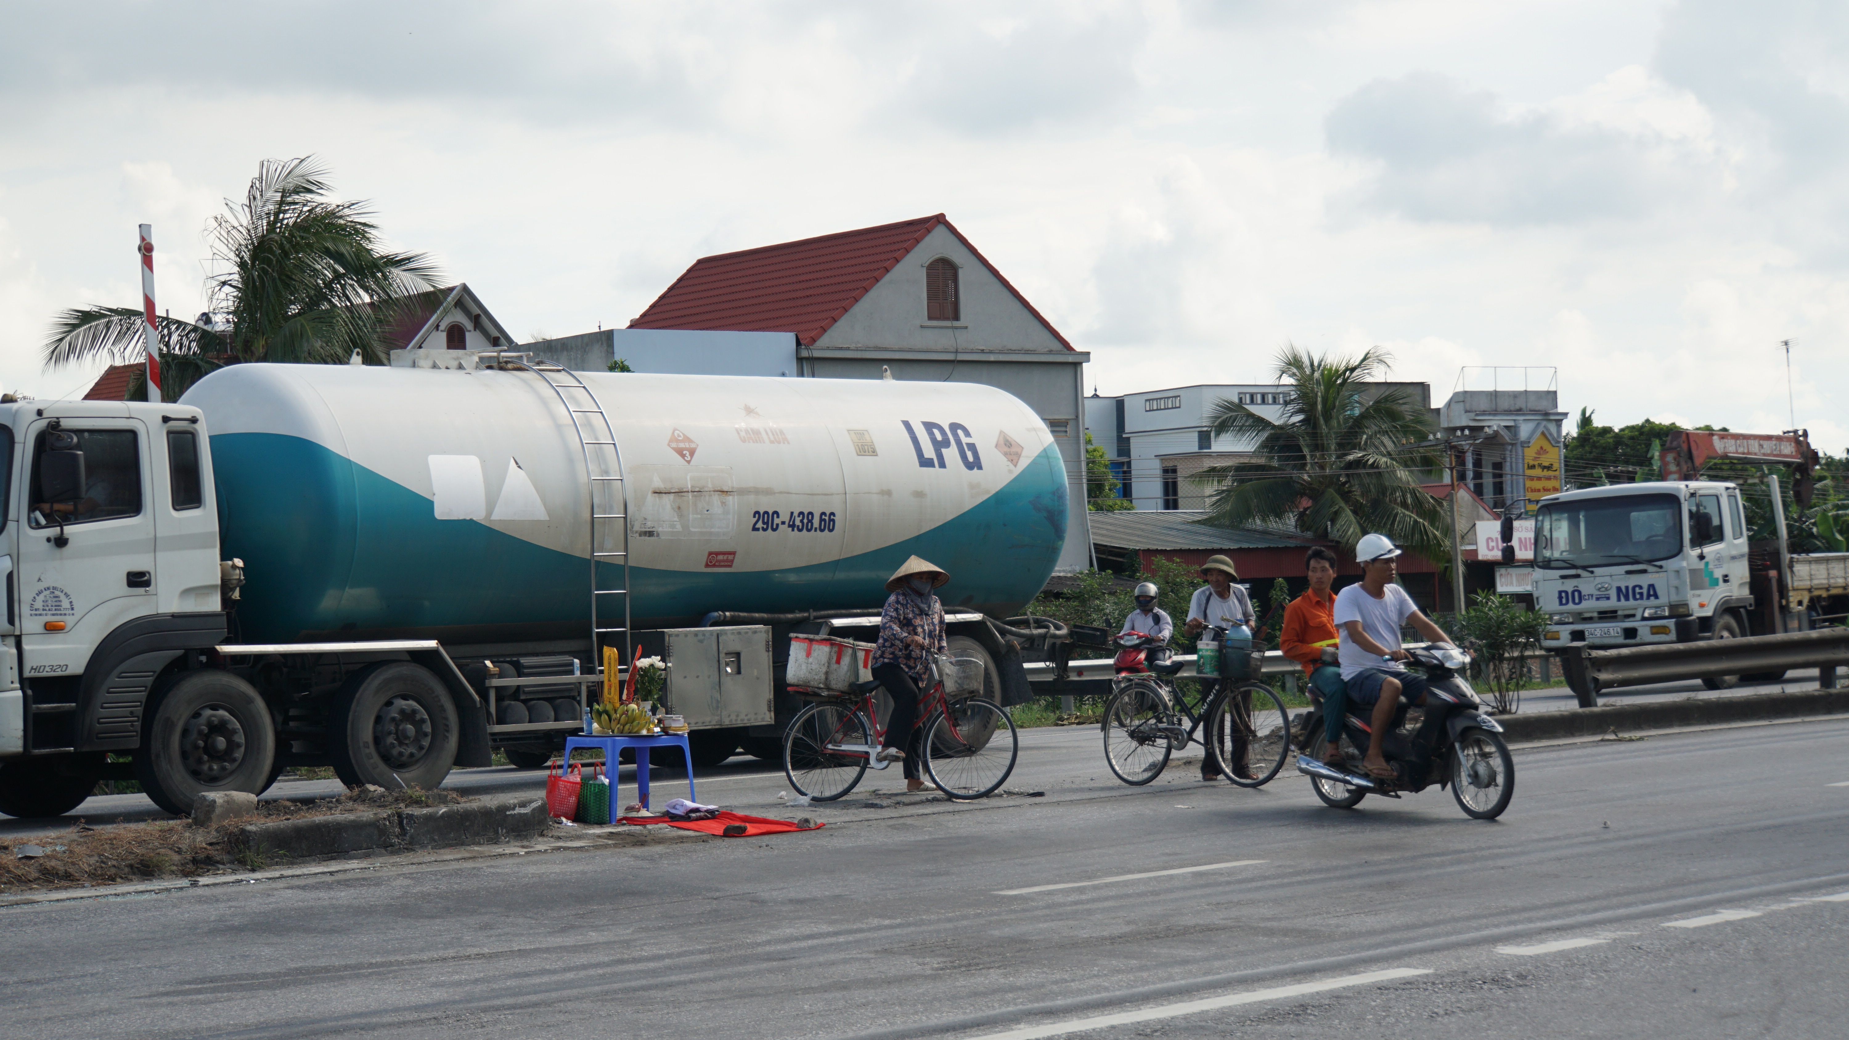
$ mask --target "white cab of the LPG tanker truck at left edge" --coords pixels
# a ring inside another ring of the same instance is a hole
[[[139,744],[155,676],[224,639],[202,427],[183,405],[0,403],[4,792],[94,783]]]

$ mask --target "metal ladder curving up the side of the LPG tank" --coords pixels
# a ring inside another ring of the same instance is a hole
[[[623,488],[623,453],[616,443],[616,429],[605,414],[597,395],[584,386],[575,371],[549,360],[505,360],[505,368],[518,368],[538,375],[566,414],[571,416],[571,429],[577,432],[579,447],[584,453],[584,475],[590,488],[590,669],[603,669],[605,641],[621,632],[623,663],[629,665],[632,637],[629,610],[629,495]],[[621,587],[603,587],[606,569],[597,563],[621,565]],[[621,611],[616,608],[621,597]],[[621,619],[621,624],[618,624]]]

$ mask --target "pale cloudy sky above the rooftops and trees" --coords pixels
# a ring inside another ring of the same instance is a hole
[[[1849,6],[85,4],[0,35],[0,384],[52,316],[200,310],[203,227],[314,153],[516,334],[693,259],[930,212],[1106,393],[1383,345],[1442,399],[1849,447]],[[1505,375],[1503,379],[1520,379]]]

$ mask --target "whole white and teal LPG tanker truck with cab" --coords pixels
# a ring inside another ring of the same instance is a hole
[[[1000,390],[492,353],[6,403],[0,493],[0,813],[30,816],[105,776],[185,813],[290,765],[533,768],[606,647],[666,656],[695,765],[771,757],[788,635],[869,624],[912,554],[952,576],[954,652],[1019,700],[1034,632],[993,619],[1067,517],[1054,438]]]

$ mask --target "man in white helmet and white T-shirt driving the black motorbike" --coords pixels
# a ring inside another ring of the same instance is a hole
[[[1405,650],[1400,648],[1400,626],[1411,623],[1431,643],[1450,643],[1413,597],[1400,587],[1400,549],[1385,534],[1370,534],[1355,545],[1361,563],[1361,582],[1335,597],[1335,626],[1341,635],[1339,659],[1342,682],[1348,683],[1348,702],[1372,706],[1368,754],[1363,759],[1370,776],[1390,778],[1392,768],[1381,756],[1381,737],[1392,726],[1394,711],[1407,704],[1426,702],[1426,676],[1405,671]]]

